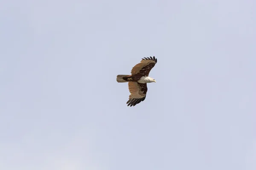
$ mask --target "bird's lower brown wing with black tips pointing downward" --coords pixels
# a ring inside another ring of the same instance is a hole
[[[145,100],[148,91],[147,83],[128,82],[128,87],[131,93],[126,103],[128,106],[135,106]]]

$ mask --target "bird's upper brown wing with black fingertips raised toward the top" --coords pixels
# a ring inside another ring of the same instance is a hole
[[[133,74],[143,74],[144,76],[148,76],[151,69],[154,67],[154,65],[157,63],[157,59],[155,57],[144,57],[145,59],[142,59],[139,64],[135,65],[131,69],[131,75]]]

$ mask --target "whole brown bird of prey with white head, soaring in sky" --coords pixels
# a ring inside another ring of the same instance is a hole
[[[139,64],[135,65],[131,70],[131,75],[117,75],[117,82],[128,82],[130,91],[128,106],[135,106],[146,98],[148,91],[147,83],[156,82],[155,79],[148,77],[149,72],[157,63],[155,57],[144,57]]]

